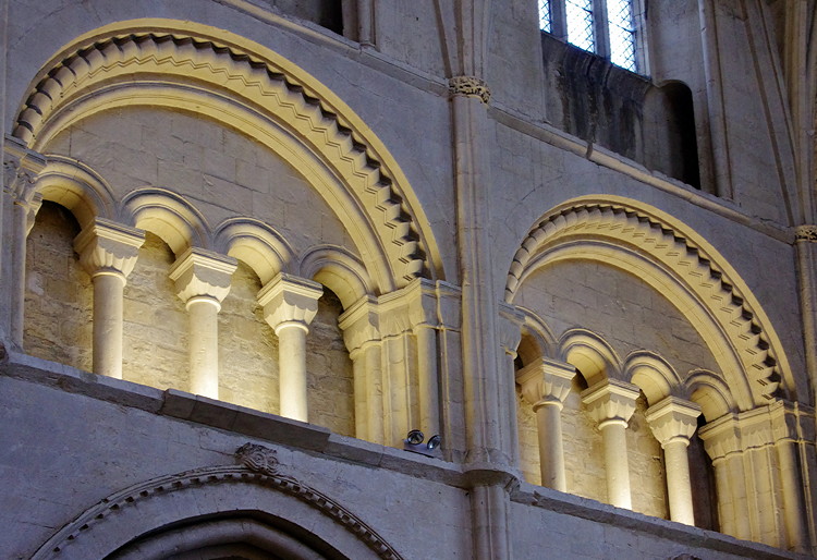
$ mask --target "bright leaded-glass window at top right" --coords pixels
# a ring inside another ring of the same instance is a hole
[[[639,0],[538,0],[539,28],[631,72],[645,73]]]

